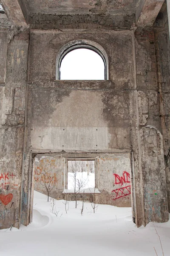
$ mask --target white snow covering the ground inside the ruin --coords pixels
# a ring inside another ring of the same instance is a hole
[[[51,202],[34,192],[33,222],[20,229],[0,230],[0,256],[170,256],[170,221],[137,228],[131,208],[99,205],[93,213],[90,203],[56,202],[58,215],[50,212]],[[155,227],[156,230],[155,230]],[[156,249],[156,252],[154,250]]]

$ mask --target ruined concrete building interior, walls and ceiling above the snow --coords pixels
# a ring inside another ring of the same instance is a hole
[[[132,207],[137,227],[168,221],[168,17],[169,0],[0,0],[0,229],[31,223],[44,172],[74,200],[75,166],[86,198]],[[78,49],[99,78],[62,78]]]

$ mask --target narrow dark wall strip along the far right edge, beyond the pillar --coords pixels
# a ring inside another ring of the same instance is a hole
[[[170,212],[170,38],[166,4],[164,4],[156,19],[155,37],[159,81],[159,109],[164,145],[168,207]]]

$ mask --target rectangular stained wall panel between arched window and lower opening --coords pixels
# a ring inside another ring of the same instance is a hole
[[[89,90],[74,90],[73,82],[58,83],[72,90],[30,86],[32,151],[130,148],[127,92],[91,90],[91,81]],[[106,88],[108,82],[101,84]]]

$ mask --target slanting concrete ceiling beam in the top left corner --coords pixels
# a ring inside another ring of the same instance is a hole
[[[14,23],[15,26],[27,26],[18,0],[1,0],[1,3],[8,19]]]

